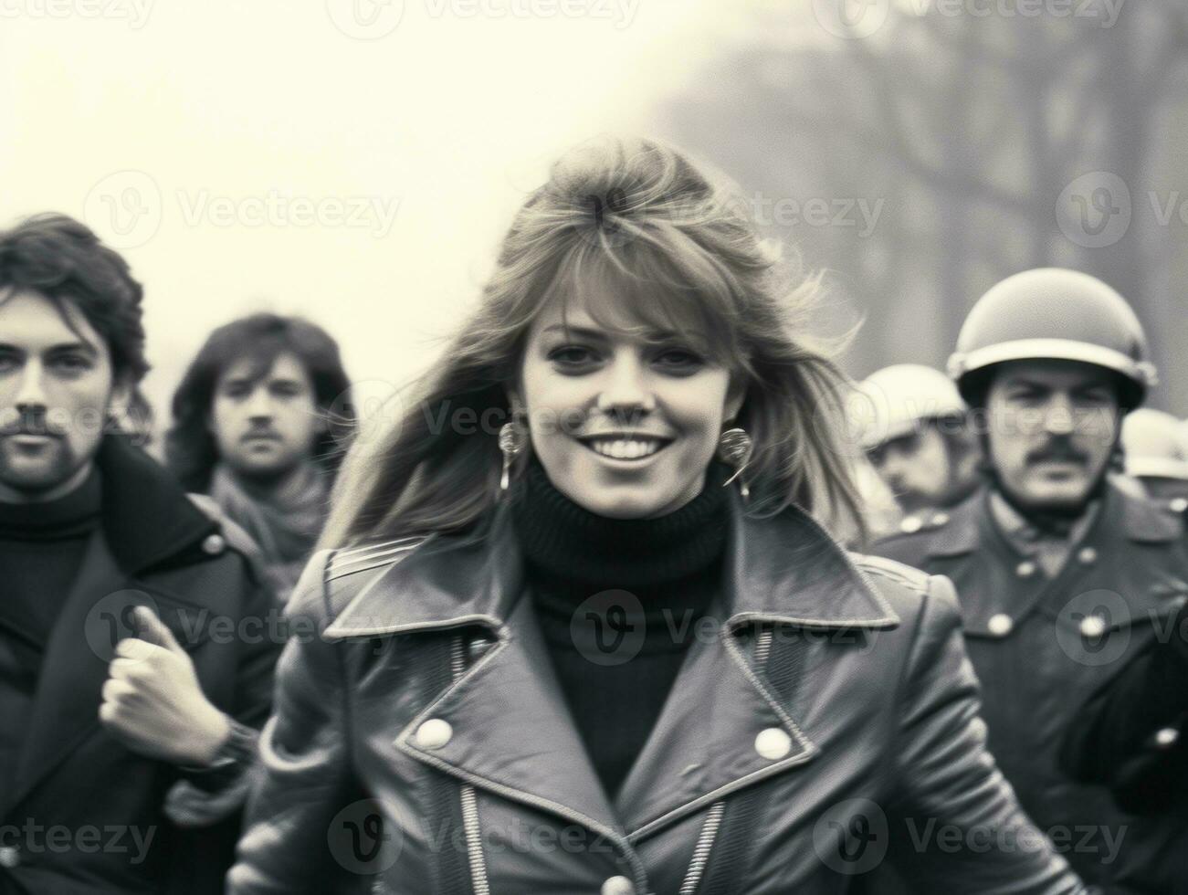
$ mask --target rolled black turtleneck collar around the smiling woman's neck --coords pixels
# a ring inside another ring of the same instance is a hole
[[[524,557],[565,590],[655,591],[697,575],[726,544],[725,474],[710,466],[701,493],[678,510],[645,519],[599,516],[561,493],[536,461],[513,506]]]

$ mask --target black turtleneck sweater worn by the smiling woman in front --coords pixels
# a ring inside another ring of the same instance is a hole
[[[721,586],[725,490],[650,519],[579,506],[531,464],[514,504],[525,574],[574,723],[612,798]],[[626,592],[626,593],[624,593]]]

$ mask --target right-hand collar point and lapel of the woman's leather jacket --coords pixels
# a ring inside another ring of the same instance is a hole
[[[752,661],[753,625],[890,629],[899,619],[807,515],[752,519],[735,508],[718,636],[695,641],[617,800],[632,840],[731,793],[811,761],[819,748]],[[809,649],[810,638],[778,649]],[[788,750],[765,757],[759,736]],[[661,781],[663,783],[661,784]]]

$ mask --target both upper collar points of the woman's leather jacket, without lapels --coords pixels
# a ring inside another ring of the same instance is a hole
[[[732,626],[887,629],[898,616],[846,552],[805,512],[746,516],[728,502],[726,600]],[[436,535],[392,565],[346,606],[326,636],[374,637],[482,624],[499,630],[520,595],[523,565],[508,506],[479,535]]]

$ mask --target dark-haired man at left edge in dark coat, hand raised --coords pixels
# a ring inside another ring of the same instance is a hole
[[[0,232],[4,895],[221,891],[270,708],[249,541],[124,434],[141,296],[69,218]]]

